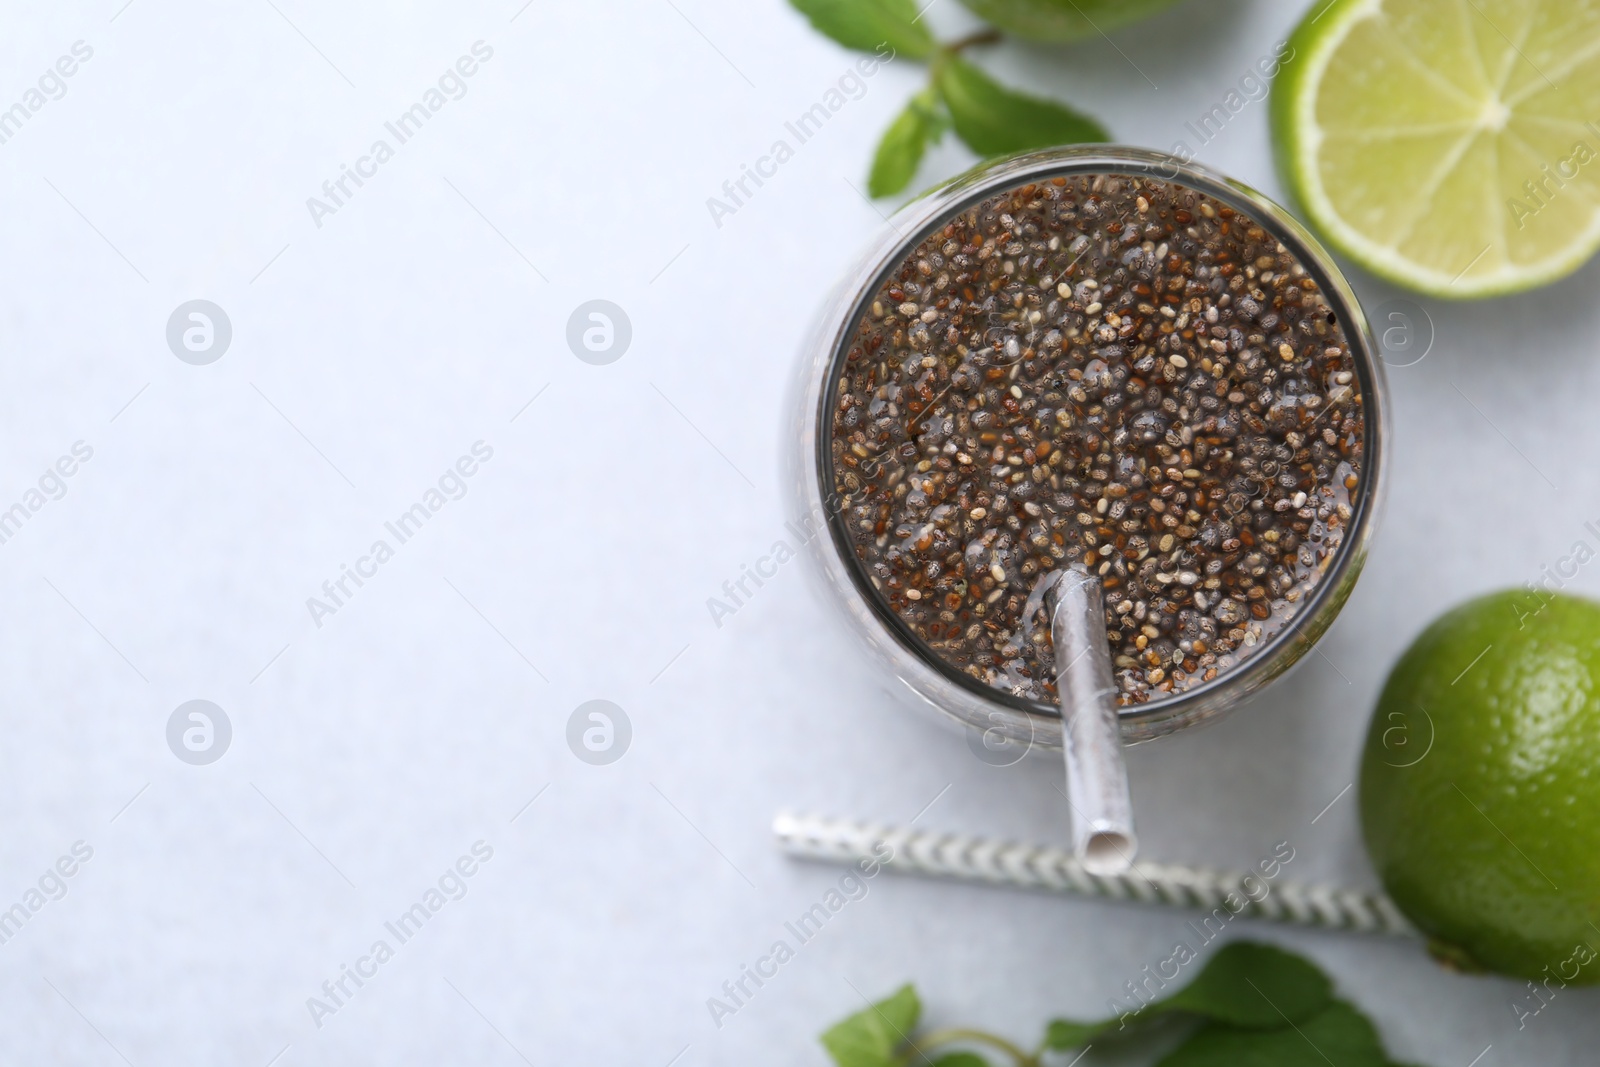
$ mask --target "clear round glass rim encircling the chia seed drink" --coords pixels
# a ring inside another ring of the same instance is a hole
[[[907,203],[901,208],[899,216],[909,216],[907,222],[910,222],[910,227],[902,229],[899,218],[890,219],[890,224],[894,226],[896,238],[877,248],[842,290],[846,296],[850,296],[848,304],[842,301],[846,310],[829,334],[832,339],[813,413],[818,427],[814,435],[816,454],[813,458],[816,462],[816,488],[824,502],[822,510],[829,528],[827,541],[834,553],[850,574],[850,582],[862,603],[870,608],[872,616],[898,646],[934,670],[946,681],[957,685],[981,701],[998,704],[1013,713],[1029,718],[1061,718],[1061,709],[1054,702],[1011,694],[973,678],[946,662],[944,657],[933,653],[910,630],[904,619],[890,606],[883,593],[867,579],[861,561],[856,558],[854,541],[848,530],[845,530],[838,493],[834,488],[837,482],[834,480],[832,410],[827,402],[837,387],[854,328],[866,314],[869,302],[886,282],[888,275],[899,269],[923,240],[950,219],[997,192],[1074,174],[1138,176],[1194,189],[1259,224],[1317,282],[1344,331],[1362,386],[1362,478],[1355,491],[1355,499],[1350,501],[1350,520],[1346,526],[1344,541],[1334,550],[1333,561],[1323,569],[1322,577],[1306,597],[1294,617],[1272,633],[1243,662],[1234,669],[1219,672],[1216,678],[1202,681],[1181,693],[1118,709],[1118,718],[1125,728],[1141,723],[1187,720],[1190,713],[1198,713],[1203,705],[1214,702],[1227,689],[1243,688],[1246,689],[1246,693],[1240,694],[1243,697],[1248,691],[1254,691],[1259,685],[1282,673],[1288,667],[1288,662],[1282,661],[1291,651],[1296,640],[1307,637],[1307,624],[1322,621],[1323,625],[1320,629],[1312,627],[1315,632],[1310,633],[1306,649],[1309,649],[1310,643],[1315,643],[1322,630],[1326,629],[1326,624],[1331,622],[1333,614],[1342,606],[1342,600],[1338,598],[1347,595],[1347,582],[1354,581],[1354,576],[1360,571],[1370,537],[1371,517],[1376,512],[1381,496],[1381,474],[1384,469],[1382,440],[1387,435],[1387,406],[1381,394],[1386,384],[1382,368],[1376,358],[1378,346],[1366,315],[1362,312],[1360,302],[1355,299],[1354,291],[1328,251],[1298,219],[1256,189],[1165,152],[1096,144],[1022,152],[990,160],[942,186],[930,189]],[[1290,662],[1299,659],[1306,649],[1288,656]]]

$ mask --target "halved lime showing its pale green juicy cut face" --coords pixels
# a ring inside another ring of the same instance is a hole
[[[1466,299],[1600,248],[1600,0],[1322,0],[1290,48],[1278,166],[1350,259]]]

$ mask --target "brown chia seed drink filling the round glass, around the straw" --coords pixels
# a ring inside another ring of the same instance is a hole
[[[1342,282],[1280,213],[1128,155],[949,197],[840,320],[813,416],[875,614],[1032,713],[1056,702],[1046,574],[1099,577],[1126,712],[1309,646],[1370,512],[1376,370]]]

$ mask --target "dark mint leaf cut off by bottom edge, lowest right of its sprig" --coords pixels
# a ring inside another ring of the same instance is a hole
[[[1336,1000],[1294,1027],[1258,1030],[1208,1022],[1155,1067],[1392,1067],[1378,1032]]]

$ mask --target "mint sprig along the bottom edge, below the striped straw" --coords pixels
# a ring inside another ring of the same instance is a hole
[[[922,1001],[912,985],[843,1019],[822,1035],[838,1067],[990,1067],[998,1053],[1014,1067],[1042,1067],[1050,1051],[1069,1051],[1147,1029],[1157,1019],[1198,1022],[1157,1067],[1398,1067],[1373,1024],[1333,995],[1314,963],[1248,941],[1219,949],[1194,979],[1136,1013],[1102,1022],[1054,1019],[1032,1051],[986,1030],[917,1032]]]

